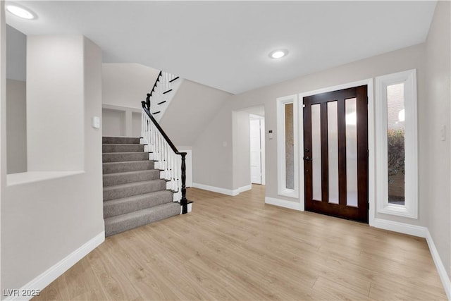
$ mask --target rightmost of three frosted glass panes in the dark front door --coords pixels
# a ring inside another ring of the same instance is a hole
[[[357,207],[357,99],[346,99],[347,206]]]

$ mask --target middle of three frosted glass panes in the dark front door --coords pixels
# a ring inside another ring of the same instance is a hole
[[[338,102],[327,104],[329,203],[338,204]]]

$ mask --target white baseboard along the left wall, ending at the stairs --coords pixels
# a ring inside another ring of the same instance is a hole
[[[32,296],[22,296],[21,292],[31,290],[43,290],[47,285],[52,283],[56,278],[61,276],[65,271],[70,269],[74,264],[76,264],[80,259],[85,257],[89,252],[98,247],[105,240],[105,232],[102,231],[98,235],[94,236],[91,240],[87,241],[84,245],[79,247],[74,252],[68,254],[66,258],[61,259],[60,262],[51,266],[47,271],[37,276],[35,279],[29,283],[23,285],[22,288],[18,290],[18,295],[6,297],[4,300],[30,300]]]

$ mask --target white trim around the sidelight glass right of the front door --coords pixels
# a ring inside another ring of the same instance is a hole
[[[378,213],[418,219],[418,116],[416,69],[376,77],[376,162],[387,162],[387,87],[404,83],[404,205],[388,203],[388,166],[376,165]]]

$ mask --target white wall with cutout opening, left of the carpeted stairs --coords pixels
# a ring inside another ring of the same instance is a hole
[[[37,123],[36,126],[45,127],[49,123],[48,119],[61,134],[55,135],[56,130],[50,126],[46,128],[54,133],[52,145],[55,149],[51,154],[43,152],[40,159],[49,162],[50,166],[68,170],[76,167],[80,170],[63,173],[66,176],[54,171],[18,173],[9,175],[6,181],[3,180],[6,175],[6,157],[1,156],[2,289],[22,288],[30,281],[37,281],[39,284],[53,281],[52,277],[58,274],[43,273],[54,269],[58,262],[66,260],[73,252],[77,254],[85,244],[90,243],[89,247],[97,246],[99,240],[95,240],[97,244],[92,245],[93,239],[104,233],[101,130],[91,127],[92,116],[101,115],[101,49],[78,35],[35,36],[28,44],[27,66],[32,66],[33,70],[28,72],[31,76],[27,78],[27,85],[30,86],[27,93],[34,102],[49,108],[46,111],[35,107],[41,116],[40,121],[37,117],[33,121]],[[37,59],[42,62],[36,62]],[[44,61],[47,63],[44,64]],[[4,75],[4,66],[1,66],[1,70]],[[54,78],[56,71],[64,81]],[[41,76],[38,78],[35,73]],[[55,87],[56,83],[61,87]],[[61,96],[68,97],[70,102],[64,97],[55,97],[55,89],[59,92],[66,91]],[[63,105],[59,102],[63,102]],[[2,97],[1,108],[4,105]],[[72,113],[67,113],[72,109]],[[55,114],[66,116],[71,122],[61,120],[61,117],[56,118]],[[4,113],[1,114],[0,121],[0,128],[4,128]],[[32,131],[32,135],[38,134],[38,131]],[[71,145],[77,151],[69,150],[70,156],[66,157],[66,164],[63,164],[60,156],[67,154],[68,150],[60,140],[66,142],[69,134]],[[35,154],[30,156],[33,163],[38,159],[36,150],[41,150],[39,147],[43,148],[42,144],[50,141],[32,141],[37,143],[33,148]],[[2,133],[2,150],[5,142],[6,138]],[[61,154],[57,154],[58,152]],[[47,157],[49,155],[57,156],[57,165],[51,165]],[[77,164],[74,165],[71,160]],[[33,166],[37,168],[39,165],[33,163]],[[32,178],[35,180],[30,180]],[[66,261],[68,263],[70,261]],[[63,272],[58,269],[56,271]]]

